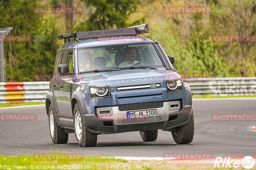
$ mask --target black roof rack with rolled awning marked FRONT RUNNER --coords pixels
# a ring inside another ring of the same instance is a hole
[[[124,35],[139,35],[149,32],[148,24],[135,25],[128,28],[108,29],[108,30],[95,30],[95,31],[82,31],[68,34],[58,35],[58,39],[64,39],[64,43],[70,42],[70,38],[73,41],[81,39],[92,39],[99,37],[113,37],[113,36],[124,36]]]

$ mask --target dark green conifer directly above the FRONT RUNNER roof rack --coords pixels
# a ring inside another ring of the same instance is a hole
[[[86,30],[105,30],[109,28],[121,28],[141,24],[144,18],[140,18],[133,23],[127,20],[132,12],[137,9],[138,0],[82,0],[88,7],[95,8],[80,28]],[[84,28],[83,28],[84,29]]]

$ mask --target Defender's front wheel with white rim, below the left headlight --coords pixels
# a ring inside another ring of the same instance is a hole
[[[93,147],[96,145],[97,134],[88,131],[86,128],[78,103],[74,107],[74,131],[79,146]]]

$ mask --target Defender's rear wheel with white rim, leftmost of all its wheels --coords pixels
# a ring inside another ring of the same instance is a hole
[[[56,119],[54,117],[52,111],[52,104],[49,106],[49,129],[52,137],[52,142],[54,144],[66,144],[68,143],[68,133],[65,132],[65,128],[61,128],[56,123]]]

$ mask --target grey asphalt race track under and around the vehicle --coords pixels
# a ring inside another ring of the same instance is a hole
[[[176,145],[171,132],[158,131],[154,142],[143,142],[139,132],[99,135],[96,147],[82,148],[75,134],[69,134],[68,144],[53,144],[44,106],[0,109],[3,113],[34,113],[35,121],[0,121],[0,154],[49,153],[57,149],[84,156],[111,155],[162,157],[164,153],[210,153],[221,156],[256,156],[256,122],[212,121],[212,114],[255,114],[256,98],[193,100],[195,136],[191,144]]]

